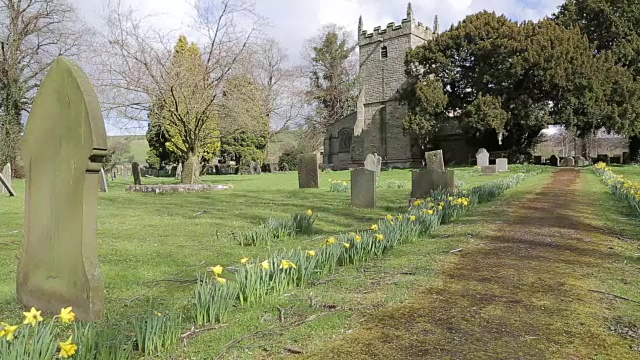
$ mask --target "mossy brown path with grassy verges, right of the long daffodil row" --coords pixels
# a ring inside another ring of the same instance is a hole
[[[309,359],[638,359],[639,236],[590,168],[561,169],[442,227],[429,250],[345,272],[357,291],[336,280],[316,295],[334,323],[276,341]],[[388,301],[396,289],[405,299]]]

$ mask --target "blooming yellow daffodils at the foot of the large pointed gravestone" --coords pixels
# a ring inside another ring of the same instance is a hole
[[[78,358],[75,356],[78,345],[74,342],[73,331],[76,314],[71,307],[60,309],[60,313],[47,322],[35,307],[23,315],[21,324],[0,321],[0,359]],[[64,339],[60,340],[62,336]]]

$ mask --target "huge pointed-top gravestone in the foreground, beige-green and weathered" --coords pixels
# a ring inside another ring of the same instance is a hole
[[[33,102],[22,145],[25,237],[17,295],[27,308],[53,314],[71,306],[85,321],[102,316],[96,189],[106,156],[95,90],[78,65],[58,57]]]

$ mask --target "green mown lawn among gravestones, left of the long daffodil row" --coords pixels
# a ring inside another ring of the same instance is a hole
[[[506,178],[518,167],[511,170],[480,176],[473,168],[456,169],[456,178],[464,187],[471,187]],[[205,183],[231,184],[234,188],[188,194],[131,193],[124,190],[133,182],[131,177],[127,181],[110,181],[109,192],[99,193],[98,204],[98,250],[106,289],[104,321],[126,329],[134,316],[149,309],[181,310],[193,296],[196,273],[208,266],[233,266],[245,256],[264,258],[280,248],[315,247],[338,232],[363,229],[388,213],[407,210],[411,180],[408,170],[382,172],[375,209],[351,208],[349,192],[329,192],[329,179],[349,181],[349,172],[322,173],[320,189],[306,190],[297,188],[296,172],[205,176]],[[177,183],[170,178],[142,181]],[[25,190],[24,181],[13,183],[18,196],[0,197],[0,320],[10,323],[20,321],[22,314],[16,302],[15,280],[24,236]],[[399,184],[406,186],[398,188]],[[254,228],[269,217],[285,218],[307,209],[317,214],[312,236],[280,240],[270,247],[242,247],[234,239],[234,233]],[[274,309],[265,305],[234,311],[232,324],[224,331],[205,332],[181,351],[200,358],[221,350],[227,341],[261,326],[263,312]]]

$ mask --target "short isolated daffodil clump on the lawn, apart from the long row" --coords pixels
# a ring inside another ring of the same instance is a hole
[[[309,209],[303,213],[294,213],[288,219],[269,218],[267,221],[238,235],[238,242],[242,246],[266,246],[272,240],[286,239],[297,234],[313,232],[315,215]]]

